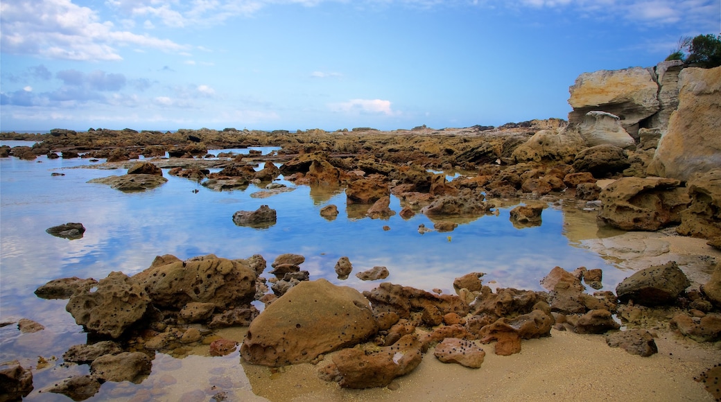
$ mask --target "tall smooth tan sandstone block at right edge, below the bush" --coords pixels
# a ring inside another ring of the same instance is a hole
[[[721,166],[721,66],[684,68],[678,108],[661,136],[649,174],[686,181]]]

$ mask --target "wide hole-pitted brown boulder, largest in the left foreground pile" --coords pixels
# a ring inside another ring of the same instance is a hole
[[[154,262],[133,280],[159,308],[180,311],[188,303],[213,303],[218,311],[247,305],[255,298],[255,270],[244,260],[213,254],[186,261]]]

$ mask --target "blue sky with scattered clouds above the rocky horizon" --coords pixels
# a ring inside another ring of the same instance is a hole
[[[382,130],[566,118],[721,0],[3,0],[0,130]]]

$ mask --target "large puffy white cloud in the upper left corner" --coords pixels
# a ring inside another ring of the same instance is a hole
[[[137,45],[164,51],[183,48],[172,40],[115,30],[112,22],[101,22],[92,9],[70,0],[4,1],[0,11],[3,53],[118,61],[122,59],[118,46]]]

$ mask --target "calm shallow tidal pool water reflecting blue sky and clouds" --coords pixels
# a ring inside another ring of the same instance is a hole
[[[267,153],[271,148],[257,149]],[[148,192],[124,193],[87,182],[125,174],[125,169],[78,167],[91,164],[87,159],[50,160],[45,156],[35,161],[0,159],[0,321],[30,318],[46,328],[22,335],[16,325],[0,328],[0,361],[19,359],[24,367],[34,367],[38,356],[59,358],[71,345],[87,341],[81,327],[66,313],[66,300],[42,300],[34,295],[40,285],[62,277],[100,280],[112,271],[132,275],[163,254],[180,259],[261,254],[269,269],[279,254],[302,254],[306,262],[301,268],[310,272],[311,280],[322,277],[358,290],[370,290],[381,282],[355,277],[356,272],[374,266],[389,269],[384,282],[444,293],[453,293],[454,278],[469,272],[485,272],[483,280],[493,287],[531,290],[541,290],[539,280],[556,266],[603,268],[603,290],[614,290],[626,276],[564,236],[564,213],[556,207],[544,210],[543,224],[533,228],[515,228],[509,220],[515,205],[508,205],[500,208],[497,216],[464,219],[450,233],[420,234],[420,224],[433,228],[425,215],[408,220],[399,215],[386,220],[363,218],[346,207],[342,189],[299,186],[293,192],[257,199],[250,196],[261,190],[255,185],[243,191],[213,192],[197,182],[172,177],[164,169],[166,184]],[[335,220],[319,215],[328,204],[337,205],[340,211]],[[277,210],[278,223],[262,230],[233,223],[236,211],[256,210],[260,205]],[[401,210],[396,197],[392,197],[391,208]],[[593,214],[580,214],[581,219],[590,217],[589,233],[596,233]],[[68,241],[45,233],[45,229],[67,222],[83,223],[87,229],[83,238]],[[385,231],[384,225],[390,230]],[[348,280],[337,280],[335,275],[340,256],[348,256],[353,263]],[[154,367],[154,375],[162,373],[162,367]],[[87,371],[87,366],[74,370]],[[60,372],[57,366],[34,372],[35,391],[29,399],[42,396],[47,400],[50,396],[37,390]],[[104,385],[104,389],[113,386]]]

